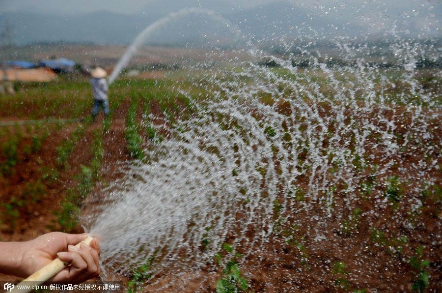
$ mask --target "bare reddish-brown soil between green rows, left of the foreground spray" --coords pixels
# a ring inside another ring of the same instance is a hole
[[[110,130],[103,137],[105,154],[102,169],[106,172],[102,172],[101,180],[104,182],[117,178],[117,163],[129,159],[124,135],[127,109],[128,103],[123,102],[113,114]],[[20,197],[27,183],[36,182],[41,178],[42,165],[54,168],[60,173],[55,182],[45,184],[44,195],[39,197],[34,205],[27,204],[19,208],[20,217],[15,223],[2,216],[0,226],[2,241],[25,241],[41,234],[61,230],[54,212],[60,208],[59,205],[66,190],[77,183],[73,174],[77,174],[80,171],[80,166],[88,165],[91,160],[90,146],[93,142],[93,131],[102,129],[102,120],[103,118],[99,117],[97,122],[87,127],[84,136],[78,141],[74,152],[70,155],[69,167],[66,170],[56,164],[56,147],[63,139],[69,137],[78,124],[71,124],[59,131],[52,131],[37,153],[25,157],[13,167],[11,176],[0,177],[0,199],[5,203],[13,197]],[[83,231],[78,227],[70,232],[80,233]],[[11,280],[11,277],[0,275],[0,280],[2,279]]]

